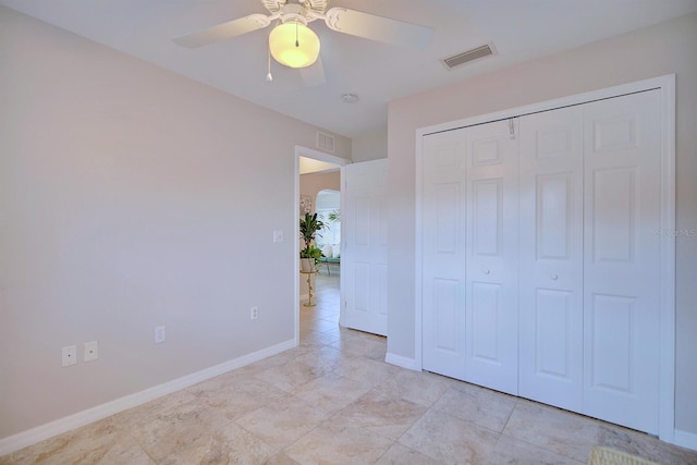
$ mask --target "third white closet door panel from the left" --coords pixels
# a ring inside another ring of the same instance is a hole
[[[519,395],[583,400],[583,107],[521,118]]]

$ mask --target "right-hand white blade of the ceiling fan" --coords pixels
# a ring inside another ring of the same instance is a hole
[[[421,47],[433,36],[433,28],[345,8],[325,13],[330,29],[366,39],[401,46]]]

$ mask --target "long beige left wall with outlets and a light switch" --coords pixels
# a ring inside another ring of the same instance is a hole
[[[316,127],[3,7],[0,63],[0,439],[294,338]]]

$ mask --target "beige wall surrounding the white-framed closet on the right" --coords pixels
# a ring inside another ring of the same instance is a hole
[[[415,355],[415,131],[527,103],[676,74],[677,229],[697,228],[697,15],[404,98],[389,108],[388,351]],[[697,435],[697,237],[677,237],[676,428]]]

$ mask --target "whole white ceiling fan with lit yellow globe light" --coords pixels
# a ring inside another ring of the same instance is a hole
[[[428,44],[433,29],[356,10],[335,7],[328,9],[329,0],[261,0],[270,14],[249,14],[174,37],[183,47],[201,47],[219,40],[267,27],[276,22],[269,34],[269,52],[279,63],[301,69],[306,86],[325,82],[325,71],[319,58],[319,37],[307,24],[323,20],[327,26],[339,33],[387,44],[419,47]],[[269,74],[271,81],[270,58]]]

